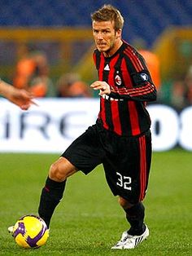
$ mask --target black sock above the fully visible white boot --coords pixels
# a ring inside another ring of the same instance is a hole
[[[133,205],[133,207],[124,210],[126,213],[126,218],[130,223],[130,229],[128,231],[129,235],[140,236],[145,232],[145,207],[142,205],[142,202]]]

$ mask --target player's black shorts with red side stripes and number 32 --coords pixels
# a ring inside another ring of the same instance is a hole
[[[63,152],[85,174],[103,164],[111,192],[130,203],[142,201],[151,168],[151,131],[137,137],[121,137],[97,125],[89,126]]]

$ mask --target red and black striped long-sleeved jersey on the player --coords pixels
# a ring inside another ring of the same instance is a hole
[[[111,57],[104,57],[98,50],[93,56],[98,80],[111,87],[111,94],[100,98],[97,122],[121,136],[137,136],[149,130],[146,102],[156,99],[156,89],[142,55],[123,42]]]

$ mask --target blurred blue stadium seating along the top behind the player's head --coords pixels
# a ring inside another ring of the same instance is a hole
[[[103,0],[1,0],[0,26],[90,26],[89,13]],[[111,0],[126,20],[124,38],[144,38],[151,46],[170,25],[192,24],[190,0]]]

